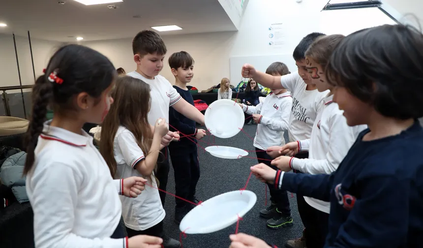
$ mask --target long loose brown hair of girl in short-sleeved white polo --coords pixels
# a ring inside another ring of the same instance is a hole
[[[106,160],[112,177],[115,177],[117,164],[113,143],[120,125],[132,132],[144,155],[151,148],[152,132],[147,119],[150,110],[150,86],[140,79],[122,76],[116,80],[112,97],[114,103],[101,124],[100,153]]]

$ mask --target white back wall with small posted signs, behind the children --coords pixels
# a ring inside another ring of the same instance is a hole
[[[313,31],[349,34],[363,28],[394,24],[376,8],[320,11],[326,3],[327,0],[303,0],[301,3],[295,0],[249,0],[238,32],[172,35],[163,36],[163,39],[168,56],[181,50],[193,56],[196,63],[191,85],[205,90],[218,84],[222,77],[231,77],[234,84],[240,81],[239,75],[230,75],[230,57],[279,54],[281,58],[287,58],[291,57],[301,38]],[[284,44],[280,47],[269,46],[269,27],[274,23],[282,23]],[[135,69],[131,39],[83,44],[105,54],[116,67],[123,67],[127,72]],[[292,61],[282,62],[287,63],[291,71],[296,69]],[[167,65],[161,74],[173,83]]]

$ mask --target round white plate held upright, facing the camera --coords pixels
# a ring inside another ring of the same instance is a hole
[[[229,99],[212,102],[204,114],[207,129],[219,138],[235,136],[241,131],[244,120],[244,112],[240,105]]]

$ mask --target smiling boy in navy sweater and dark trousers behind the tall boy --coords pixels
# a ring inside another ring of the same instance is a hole
[[[186,84],[194,77],[194,60],[187,52],[181,51],[169,57],[169,66],[175,76],[173,88],[183,99],[194,105],[194,99],[186,88]],[[200,167],[198,164],[197,141],[206,136],[204,129],[195,128],[195,122],[182,116],[176,110],[169,108],[170,129],[175,127],[185,135],[179,142],[169,144],[169,154],[175,172],[175,194],[183,199],[195,202],[195,187],[200,178]],[[176,130],[175,130],[176,131]],[[182,218],[195,205],[175,198],[175,222],[181,223]]]

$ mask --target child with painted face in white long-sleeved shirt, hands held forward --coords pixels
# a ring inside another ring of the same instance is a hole
[[[311,44],[305,53],[307,70],[312,82],[319,92],[330,90],[323,99],[324,106],[317,113],[311,130],[311,138],[288,143],[282,147],[282,154],[295,155],[300,151],[309,151],[309,158],[292,158],[281,156],[274,160],[280,168],[292,168],[308,174],[331,174],[338,168],[348,150],[365,125],[350,127],[347,125],[343,112],[333,102],[334,87],[325,77],[325,70],[335,47],[344,39],[342,34],[323,36]],[[342,137],[342,138],[340,138]],[[299,150],[300,148],[300,150]],[[328,233],[329,202],[304,196],[302,223],[306,232],[307,248],[323,248]],[[295,241],[288,241],[285,247],[295,247]]]

